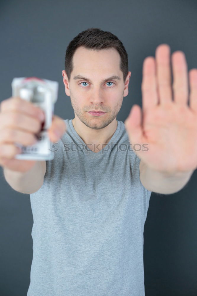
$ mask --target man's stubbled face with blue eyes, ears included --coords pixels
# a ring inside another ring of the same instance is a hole
[[[120,55],[116,49],[102,49],[99,51],[77,48],[73,55],[73,70],[68,83],[65,71],[65,92],[70,96],[71,104],[77,116],[86,126],[101,129],[108,126],[122,106],[123,96],[128,94],[128,79],[123,81],[120,70]],[[76,76],[83,76],[83,78]],[[118,79],[106,78],[117,76]],[[85,79],[86,78],[86,79]],[[120,78],[120,79],[119,79]],[[88,111],[103,111],[100,116]]]

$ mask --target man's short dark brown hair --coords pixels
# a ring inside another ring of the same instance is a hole
[[[81,33],[79,33],[75,38],[73,38],[67,46],[66,56],[65,56],[65,72],[67,74],[68,80],[70,81],[70,75],[73,70],[72,57],[75,50],[83,46],[86,49],[105,49],[105,48],[115,48],[120,54],[120,70],[123,73],[124,82],[128,74],[128,55],[123,46],[122,42],[114,34],[103,31],[98,28],[89,28]]]

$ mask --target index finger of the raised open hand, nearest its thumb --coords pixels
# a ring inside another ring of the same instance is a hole
[[[144,60],[142,73],[142,110],[145,111],[159,103],[156,90],[156,69],[154,57],[147,57]]]

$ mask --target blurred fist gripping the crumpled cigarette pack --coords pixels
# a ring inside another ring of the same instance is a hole
[[[9,170],[26,172],[37,160],[17,160],[14,156],[21,152],[14,143],[24,146],[35,144],[36,134],[41,131],[44,112],[32,102],[20,97],[10,97],[0,103],[0,165]],[[48,135],[52,142],[58,141],[66,131],[62,118],[54,115]]]

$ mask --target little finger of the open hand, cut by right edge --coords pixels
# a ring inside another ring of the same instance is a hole
[[[197,112],[197,69],[189,71],[189,84],[190,84],[190,108]]]

